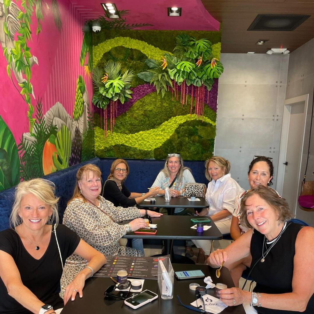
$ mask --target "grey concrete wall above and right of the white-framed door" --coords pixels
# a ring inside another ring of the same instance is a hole
[[[299,47],[290,53],[287,91],[286,99],[309,94],[306,129],[304,138],[304,148],[301,162],[301,176],[303,177],[311,123],[311,111],[313,101],[313,87],[314,87],[314,38],[308,41],[303,46]],[[307,168],[306,180],[314,180],[312,172],[314,171],[314,123],[311,132],[311,147],[309,154],[309,164]],[[301,186],[301,184],[300,184]],[[299,193],[300,194],[300,186]],[[296,218],[306,221],[308,224],[314,226],[314,212],[306,212],[297,207]]]

